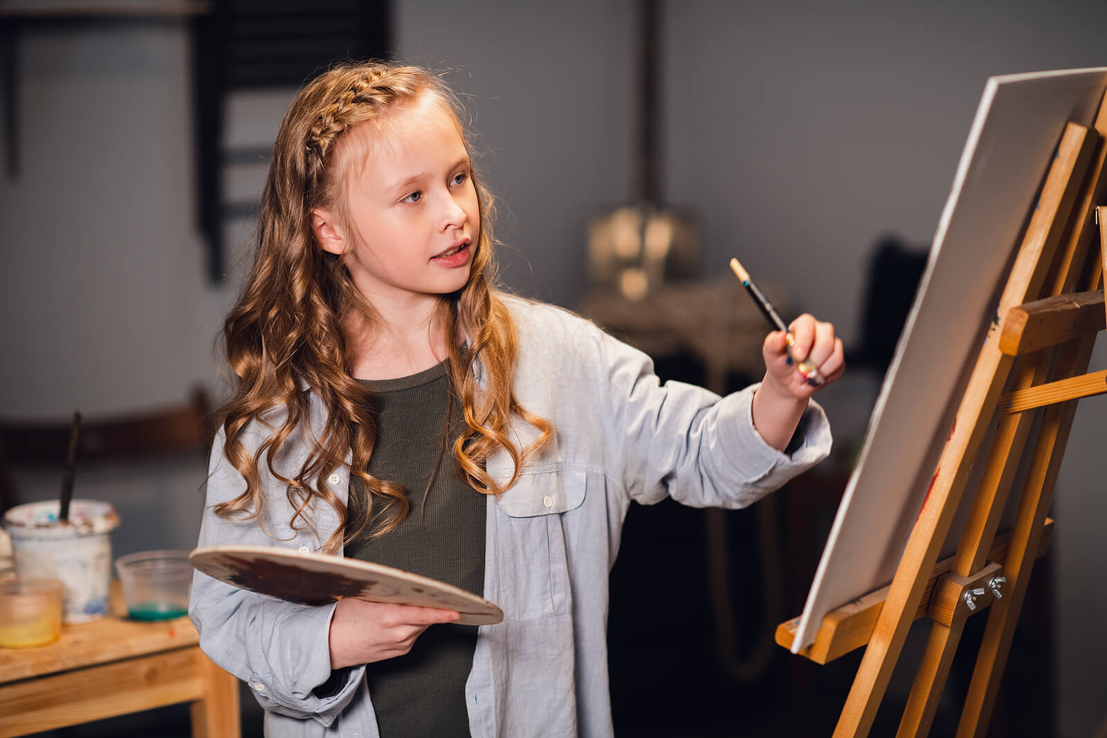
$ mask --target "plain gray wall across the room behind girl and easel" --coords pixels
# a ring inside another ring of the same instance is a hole
[[[469,96],[520,292],[575,304],[588,218],[631,194],[631,8],[397,3],[400,55],[453,70]],[[869,249],[886,232],[929,243],[986,76],[1105,64],[1104,28],[1101,2],[668,3],[664,197],[701,218],[705,277],[739,256],[850,343]],[[213,341],[237,279],[204,277],[183,27],[31,30],[19,54],[23,171],[0,177],[0,412],[122,412],[217,386]],[[231,135],[270,139],[286,100],[237,101]],[[240,174],[236,187],[256,186]],[[229,229],[238,242],[247,230]],[[1107,646],[1088,627],[1107,621],[1107,594],[1089,586],[1104,578],[1104,409],[1084,403],[1054,506],[1062,736],[1107,718]],[[85,484],[117,496],[121,549],[195,540],[194,467]]]

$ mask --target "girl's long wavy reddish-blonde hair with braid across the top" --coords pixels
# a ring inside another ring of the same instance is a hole
[[[310,218],[315,208],[348,217],[344,186],[358,158],[361,134],[389,135],[390,126],[402,125],[403,111],[425,95],[449,112],[468,148],[457,98],[438,77],[415,66],[358,63],[333,67],[300,91],[281,122],[262,191],[254,267],[223,332],[227,361],[237,377],[232,396],[220,408],[224,454],[247,484],[241,495],[215,507],[217,514],[265,520],[262,464],[284,485],[296,511],[289,521],[293,529],[314,526],[315,501],[335,509],[341,524],[324,542],[324,551],[337,551],[366,524],[372,526],[373,536],[384,534],[407,514],[404,490],[366,470],[376,440],[373,398],[350,375],[344,326],[351,314],[363,319],[362,325],[376,319],[343,258],[318,243]],[[351,136],[354,131],[359,136]],[[511,391],[516,333],[494,288],[494,202],[475,171],[473,181],[480,231],[469,278],[457,293],[443,295],[438,309],[446,335],[468,337],[464,351],[456,342],[447,342],[451,385],[465,418],[465,429],[451,453],[474,489],[495,495],[515,484],[523,461],[547,445],[552,427],[521,407]],[[476,381],[478,363],[483,388]],[[328,417],[298,472],[283,476],[275,458],[293,433],[308,428],[309,401],[301,385],[319,396]],[[517,448],[507,435],[511,415],[539,432],[526,448]],[[245,444],[248,428],[266,429],[254,454]],[[500,449],[515,464],[515,475],[504,486],[485,470],[486,459]],[[346,465],[348,451],[352,453],[351,478],[369,491],[370,514],[358,528],[346,526],[345,505],[321,484]]]

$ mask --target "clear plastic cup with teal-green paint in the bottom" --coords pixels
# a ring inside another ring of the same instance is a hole
[[[139,551],[115,561],[127,614],[134,620],[169,620],[188,613],[193,565],[188,551]]]

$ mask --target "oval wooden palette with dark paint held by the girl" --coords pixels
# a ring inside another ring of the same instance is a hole
[[[271,597],[321,605],[340,597],[455,610],[463,625],[490,625],[504,611],[472,592],[369,561],[270,545],[208,545],[188,555],[208,576]]]

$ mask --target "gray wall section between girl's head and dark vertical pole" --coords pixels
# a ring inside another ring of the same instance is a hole
[[[589,216],[632,193],[632,3],[401,2],[397,54],[470,102],[499,196],[503,276],[571,305]]]

